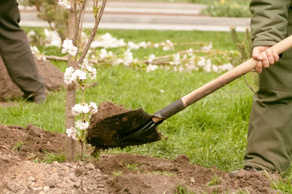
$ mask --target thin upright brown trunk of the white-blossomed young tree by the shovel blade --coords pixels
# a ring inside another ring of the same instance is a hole
[[[77,11],[76,11],[76,2],[75,0],[70,0],[72,8],[69,9],[69,30],[68,30],[68,38],[74,38],[74,34],[77,28]],[[74,40],[73,40],[74,41]],[[76,69],[76,60],[72,60],[72,56],[68,56],[68,67],[73,67]],[[66,116],[65,116],[65,127],[66,129],[70,129],[71,127],[75,127],[75,116],[72,115],[72,108],[76,103],[76,85],[71,84],[67,86],[66,90]],[[65,145],[65,156],[66,162],[74,162],[75,161],[75,140],[71,137],[66,138]]]

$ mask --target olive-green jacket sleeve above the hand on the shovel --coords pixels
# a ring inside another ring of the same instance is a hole
[[[285,39],[291,0],[252,0],[251,33],[255,46],[273,46]]]

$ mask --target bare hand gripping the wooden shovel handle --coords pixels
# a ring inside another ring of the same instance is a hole
[[[278,62],[279,55],[276,51],[269,49],[270,47],[271,46],[256,46],[253,49],[253,58],[258,60],[255,69],[257,73],[261,73],[262,68],[268,68]],[[263,53],[260,54],[261,52]]]

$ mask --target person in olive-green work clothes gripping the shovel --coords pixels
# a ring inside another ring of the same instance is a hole
[[[292,35],[291,0],[252,0],[253,58],[258,60],[259,90],[253,99],[247,171],[287,172],[292,162],[292,49],[280,58],[269,48]],[[265,51],[263,54],[261,52]],[[271,66],[273,65],[273,66]],[[238,171],[231,172],[235,177]]]

